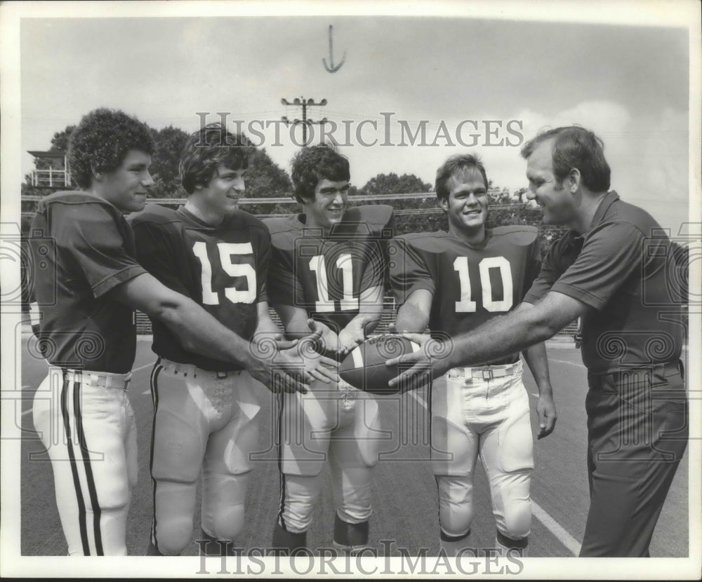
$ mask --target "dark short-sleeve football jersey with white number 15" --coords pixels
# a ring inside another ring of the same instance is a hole
[[[157,204],[130,217],[142,266],[167,287],[200,304],[244,339],[258,325],[258,303],[267,301],[270,235],[258,218],[237,211],[211,226],[181,206]],[[153,349],[162,358],[215,372],[241,366],[187,351],[176,334],[152,320]]]

